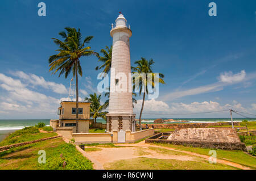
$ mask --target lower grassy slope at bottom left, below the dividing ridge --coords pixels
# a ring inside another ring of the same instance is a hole
[[[39,150],[46,151],[46,163],[38,163]],[[0,153],[0,169],[93,169],[92,162],[76,150],[72,144],[65,143],[61,138],[36,142],[19,146]]]

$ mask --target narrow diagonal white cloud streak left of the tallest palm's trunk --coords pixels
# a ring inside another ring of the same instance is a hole
[[[39,77],[35,74],[26,74],[23,71],[15,71],[12,74],[31,83],[32,86],[42,86],[44,89],[50,89],[58,94],[67,94],[68,92],[63,84],[46,81],[43,77]]]

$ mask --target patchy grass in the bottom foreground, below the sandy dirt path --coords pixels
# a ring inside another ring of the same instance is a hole
[[[201,169],[236,169],[231,166],[222,165],[220,163],[210,164],[207,161],[179,161],[176,159],[156,159],[156,158],[133,158],[123,159],[112,163],[106,163],[105,169],[120,169],[120,170],[173,170],[173,169],[186,169],[186,170],[201,170]]]

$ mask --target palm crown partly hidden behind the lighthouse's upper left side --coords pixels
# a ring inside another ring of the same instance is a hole
[[[101,53],[103,53],[103,57],[98,56],[98,61],[101,61],[103,64],[100,67],[97,66],[95,68],[95,70],[100,70],[100,69],[104,68],[104,70],[102,72],[108,74],[109,70],[111,69],[112,45],[111,45],[110,48],[108,46],[106,46],[106,50],[105,49],[101,49]]]

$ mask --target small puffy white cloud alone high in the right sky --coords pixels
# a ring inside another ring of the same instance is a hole
[[[245,70],[242,70],[240,73],[233,74],[232,71],[221,73],[220,77],[218,78],[220,82],[224,83],[234,83],[234,82],[241,82],[245,79]]]

